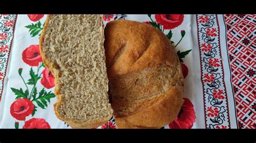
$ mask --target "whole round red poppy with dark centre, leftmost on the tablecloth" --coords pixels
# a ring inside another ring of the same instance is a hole
[[[34,110],[33,103],[27,98],[19,98],[11,104],[11,116],[17,120],[25,120]]]

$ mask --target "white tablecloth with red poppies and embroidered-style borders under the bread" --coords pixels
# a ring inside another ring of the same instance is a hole
[[[255,15],[103,15],[166,34],[185,77],[184,104],[162,128],[256,128]],[[53,111],[39,35],[46,15],[0,15],[0,128],[71,128]],[[114,117],[97,128],[118,128]]]

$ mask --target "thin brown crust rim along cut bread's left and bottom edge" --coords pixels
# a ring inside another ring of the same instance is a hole
[[[46,60],[46,55],[42,50],[43,42],[44,42],[44,33],[48,28],[48,23],[49,23],[50,17],[51,17],[51,15],[47,16],[47,18],[45,20],[43,31],[39,38],[39,50],[40,50],[45,67],[48,68],[51,71],[52,75],[55,77],[55,95],[57,97],[57,102],[53,105],[55,115],[57,116],[58,119],[65,121],[68,125],[70,125],[73,128],[93,128],[93,127],[97,127],[97,126],[105,124],[112,117],[112,115],[109,117],[106,117],[102,120],[89,121],[89,122],[85,122],[85,123],[77,123],[76,120],[66,120],[66,119],[60,117],[57,109],[58,109],[58,106],[60,106],[60,104],[62,103],[63,99],[59,96],[60,89],[57,88],[58,84],[59,84],[59,79],[58,79],[57,73],[55,71],[56,65],[54,63],[51,63],[50,61]]]

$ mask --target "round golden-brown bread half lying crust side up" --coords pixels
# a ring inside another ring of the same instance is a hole
[[[114,20],[105,27],[104,47],[118,128],[160,128],[177,118],[184,81],[166,35],[151,25]]]

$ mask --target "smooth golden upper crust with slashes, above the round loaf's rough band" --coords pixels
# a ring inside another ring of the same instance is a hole
[[[169,65],[177,62],[170,40],[153,26],[144,23],[130,20],[107,23],[104,46],[107,70],[114,75],[153,67],[163,61]],[[122,50],[127,47],[129,50]]]

